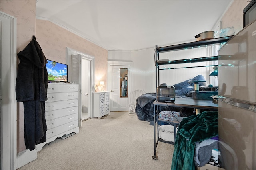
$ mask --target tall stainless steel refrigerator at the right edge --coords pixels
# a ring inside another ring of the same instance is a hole
[[[256,21],[221,47],[218,62],[219,163],[256,170]]]

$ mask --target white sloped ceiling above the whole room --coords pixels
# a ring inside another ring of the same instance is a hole
[[[232,0],[37,0],[36,16],[114,51],[195,41]],[[213,30],[214,31],[214,30]]]

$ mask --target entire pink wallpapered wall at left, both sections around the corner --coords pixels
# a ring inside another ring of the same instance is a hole
[[[36,0],[1,0],[2,12],[17,18],[17,53],[36,36],[47,59],[66,63],[66,47],[95,57],[95,81],[106,82],[108,51],[45,20],[36,20]],[[17,152],[25,150],[23,104],[17,106]]]

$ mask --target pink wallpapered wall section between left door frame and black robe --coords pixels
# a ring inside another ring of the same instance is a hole
[[[35,35],[36,1],[1,0],[1,11],[17,18],[17,53],[22,51]],[[18,59],[17,59],[18,61]],[[17,152],[25,150],[23,103],[17,103]]]

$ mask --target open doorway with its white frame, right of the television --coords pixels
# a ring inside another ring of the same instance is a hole
[[[79,51],[67,48],[68,81],[79,86],[79,127],[82,121],[93,117],[92,86],[94,83],[95,59]]]

